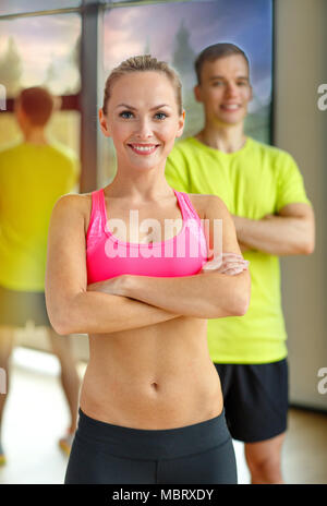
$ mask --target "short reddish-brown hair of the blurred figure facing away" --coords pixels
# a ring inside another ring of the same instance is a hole
[[[43,86],[23,89],[16,98],[25,115],[35,126],[45,126],[55,108],[53,96]]]

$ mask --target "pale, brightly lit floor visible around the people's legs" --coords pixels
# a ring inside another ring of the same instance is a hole
[[[7,465],[0,483],[62,483],[66,456],[58,439],[69,423],[65,398],[53,356],[16,348],[7,401],[2,443]],[[84,366],[81,364],[81,375]],[[239,483],[250,483],[243,444],[234,442]],[[282,455],[287,483],[327,484],[327,413],[291,409]]]

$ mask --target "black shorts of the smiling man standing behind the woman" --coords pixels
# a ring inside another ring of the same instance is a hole
[[[288,362],[217,364],[231,436],[244,443],[270,439],[287,430]]]

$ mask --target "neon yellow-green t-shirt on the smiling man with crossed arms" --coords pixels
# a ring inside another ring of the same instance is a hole
[[[247,137],[231,154],[194,137],[177,143],[166,165],[178,191],[218,195],[235,216],[262,219],[291,203],[308,203],[303,179],[286,152]],[[217,363],[268,363],[287,356],[279,258],[249,251],[251,302],[244,316],[208,321],[210,358]]]

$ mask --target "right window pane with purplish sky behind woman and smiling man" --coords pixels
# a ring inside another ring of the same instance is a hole
[[[104,17],[102,83],[125,58],[152,53],[172,64],[181,75],[186,110],[184,136],[198,131],[203,108],[194,100],[194,59],[205,47],[219,41],[240,46],[250,58],[254,98],[245,131],[258,141],[270,140],[271,107],[271,1],[228,0],[154,3],[117,7]],[[101,104],[102,97],[99,97]],[[116,173],[112,143],[102,138],[98,185]]]

